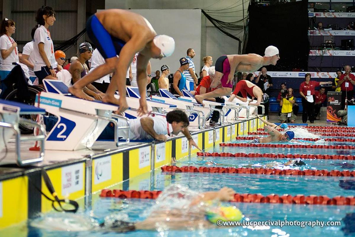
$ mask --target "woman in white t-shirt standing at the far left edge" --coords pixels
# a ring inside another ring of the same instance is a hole
[[[15,22],[4,18],[1,22],[0,28],[0,77],[4,80],[10,71],[16,66],[12,63],[19,63],[17,44],[11,38],[15,33]]]

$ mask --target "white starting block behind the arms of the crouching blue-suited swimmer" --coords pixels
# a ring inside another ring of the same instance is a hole
[[[137,109],[140,106],[139,99],[141,98],[139,89],[138,87],[126,87],[126,93],[127,93],[126,101],[131,109],[127,109],[125,111],[125,117],[129,119],[136,119],[138,118]],[[115,95],[115,98],[119,99],[120,96]],[[176,108],[176,105],[174,104],[168,104],[162,101],[154,101],[147,96],[146,99],[147,99],[147,107],[148,107],[147,109],[150,114],[162,115],[165,109],[170,111],[170,109],[172,110]]]

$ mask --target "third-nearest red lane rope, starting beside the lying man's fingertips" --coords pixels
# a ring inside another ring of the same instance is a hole
[[[301,159],[319,159],[319,160],[355,160],[355,156],[351,155],[320,155],[320,154],[275,154],[275,153],[229,153],[229,152],[197,152],[197,156],[211,156],[211,157],[249,157],[249,158],[288,158],[288,159],[295,159],[295,158],[301,158]]]

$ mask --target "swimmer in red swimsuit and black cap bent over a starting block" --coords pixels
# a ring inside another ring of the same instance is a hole
[[[237,96],[238,93],[241,93],[243,97]],[[229,102],[233,101],[234,98],[240,99],[243,102],[247,102],[247,94],[250,95],[253,101],[254,98],[257,99],[257,102],[249,102],[249,105],[258,106],[261,102],[266,103],[269,100],[269,96],[267,94],[263,94],[262,90],[247,80],[241,80],[235,85],[235,89],[233,93],[229,97]]]

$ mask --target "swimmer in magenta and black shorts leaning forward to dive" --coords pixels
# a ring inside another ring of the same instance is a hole
[[[258,54],[222,55],[216,61],[216,72],[211,88],[217,87],[219,83],[222,87],[203,95],[196,95],[195,99],[198,103],[203,104],[203,100],[206,98],[229,96],[232,92],[236,72],[255,72],[263,65],[276,65],[279,59],[279,50],[274,46],[267,47],[264,56]]]

